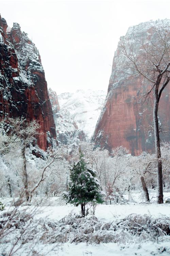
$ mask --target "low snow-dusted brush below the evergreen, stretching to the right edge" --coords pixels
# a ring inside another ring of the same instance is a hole
[[[70,214],[59,222],[48,220],[44,227],[48,232],[44,233],[43,239],[47,239],[48,242],[116,242],[125,244],[130,240],[141,242],[149,239],[154,241],[158,237],[169,235],[170,218],[131,214],[118,222],[103,222],[94,215],[83,217]]]

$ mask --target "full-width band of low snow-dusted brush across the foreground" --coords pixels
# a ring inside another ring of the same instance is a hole
[[[30,210],[32,209],[32,210]],[[170,218],[131,214],[112,222],[100,221],[94,215],[82,216],[70,213],[60,221],[37,219],[33,208],[0,215],[0,247],[34,248],[36,244],[70,243],[118,243],[158,241],[170,235]],[[15,251],[13,249],[13,251]],[[13,255],[13,254],[11,254]]]

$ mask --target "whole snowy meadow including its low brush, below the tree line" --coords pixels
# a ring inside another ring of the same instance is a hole
[[[51,206],[20,206],[2,238],[1,254],[10,255],[4,252],[17,241],[11,255],[169,255],[170,205],[139,203],[139,195],[132,194],[138,202],[97,205],[95,215],[85,217],[78,207],[61,205],[60,198],[51,198]],[[9,213],[13,207],[7,205]]]

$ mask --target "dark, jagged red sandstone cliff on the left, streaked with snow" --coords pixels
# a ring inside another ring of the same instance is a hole
[[[0,116],[36,119],[44,134],[37,138],[46,150],[56,138],[53,112],[41,59],[34,43],[17,23],[10,29],[0,16]]]

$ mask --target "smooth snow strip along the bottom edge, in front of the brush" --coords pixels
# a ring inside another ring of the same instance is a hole
[[[107,244],[87,244],[87,243],[80,243],[80,244],[60,244],[58,248],[55,248],[50,252],[48,255],[57,255],[57,256],[130,256],[130,255],[138,255],[138,256],[149,256],[149,255],[160,255],[161,251],[164,248],[168,248],[170,245],[169,241],[164,241],[160,244],[155,244],[152,242],[146,242],[143,244],[129,244],[129,245],[121,245],[115,243],[107,243]],[[44,248],[43,252],[46,253],[47,250],[52,248],[48,246]],[[169,247],[170,248],[170,247]],[[163,256],[169,256],[170,249],[168,248],[167,251],[163,252]]]

